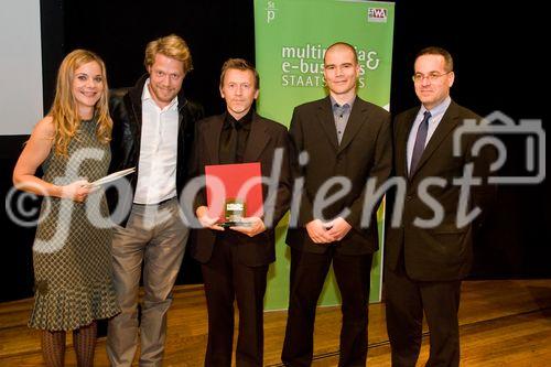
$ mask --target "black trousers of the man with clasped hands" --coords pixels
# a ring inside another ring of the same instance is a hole
[[[343,302],[338,366],[365,366],[371,260],[372,255],[346,256],[334,247],[325,253],[291,250],[291,292],[281,355],[285,366],[312,364],[317,299],[332,262]]]

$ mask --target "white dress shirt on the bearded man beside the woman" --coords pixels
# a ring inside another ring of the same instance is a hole
[[[164,108],[156,106],[143,86],[141,148],[134,203],[156,204],[176,196],[177,97]]]

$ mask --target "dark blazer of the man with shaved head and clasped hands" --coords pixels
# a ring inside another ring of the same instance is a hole
[[[376,251],[379,248],[376,213],[371,213],[368,226],[363,228],[360,224],[367,180],[377,180],[378,187],[391,172],[389,114],[356,97],[343,140],[338,144],[331,98],[326,97],[298,106],[289,132],[293,143],[293,172],[295,179],[304,177],[304,191],[300,213],[294,218],[298,219],[298,226],[289,228],[287,244],[307,252],[323,253],[327,250],[327,245],[312,241],[305,225],[314,219],[313,202],[320,187],[334,176],[344,176],[352,183],[350,192],[323,211],[325,219],[333,219],[343,209],[350,209],[345,219],[353,229],[335,244],[336,251],[344,255]],[[301,166],[296,163],[296,156],[303,151],[309,153],[310,161]]]

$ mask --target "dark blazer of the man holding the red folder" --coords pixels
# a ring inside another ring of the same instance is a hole
[[[213,116],[197,123],[197,132],[194,148],[194,164],[198,175],[205,174],[205,165],[219,164],[219,140],[226,114]],[[289,209],[291,201],[291,170],[289,162],[289,133],[284,126],[266,119],[253,112],[251,130],[245,149],[244,163],[260,162],[263,176],[271,176],[272,161],[276,149],[283,149],[283,162],[278,185],[278,195],[274,202],[273,226],[253,237],[248,237],[238,231],[230,231],[233,238],[238,241],[238,259],[246,266],[263,266],[276,260],[276,236],[274,227]],[[266,202],[268,186],[262,185],[262,195]],[[202,191],[196,199],[195,209],[199,205],[206,205],[205,191]],[[264,213],[269,211],[264,203]],[[212,229],[198,229],[192,241],[191,253],[199,262],[207,262],[213,253],[213,245],[217,231]]]

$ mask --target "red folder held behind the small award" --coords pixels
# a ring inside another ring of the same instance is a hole
[[[208,216],[224,222],[228,198],[246,204],[246,217],[263,215],[260,163],[205,165]]]

